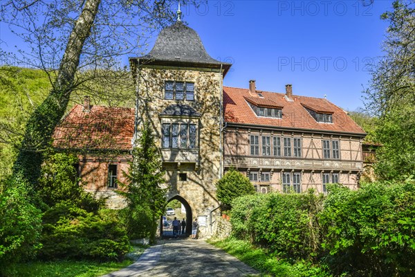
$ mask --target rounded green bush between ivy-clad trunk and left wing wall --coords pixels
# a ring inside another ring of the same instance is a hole
[[[96,212],[104,200],[94,199],[91,193],[84,191],[74,167],[77,163],[78,159],[73,154],[57,153],[48,157],[42,166],[37,194],[49,207],[65,202]]]

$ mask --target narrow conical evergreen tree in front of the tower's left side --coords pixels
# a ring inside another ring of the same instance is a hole
[[[148,217],[148,233],[150,243],[156,241],[157,224],[164,213],[167,204],[167,189],[162,188],[164,183],[163,169],[158,147],[154,143],[154,135],[148,121],[143,123],[138,145],[133,150],[133,161],[129,165],[129,172],[125,172],[129,181],[123,184],[119,193],[127,199],[129,215],[140,214]],[[134,218],[130,218],[134,224]],[[141,226],[145,222],[137,222]]]

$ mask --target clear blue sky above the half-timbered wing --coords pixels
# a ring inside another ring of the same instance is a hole
[[[365,6],[363,5],[365,3]],[[208,53],[231,62],[224,84],[322,98],[347,110],[363,107],[370,80],[367,63],[382,55],[392,1],[208,1],[182,7],[183,19],[199,33]],[[176,10],[176,7],[172,7]],[[9,49],[18,44],[0,24]],[[156,37],[149,41],[151,50]],[[1,45],[5,48],[6,44]],[[128,57],[123,57],[128,64]]]

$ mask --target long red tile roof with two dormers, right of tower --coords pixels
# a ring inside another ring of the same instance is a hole
[[[249,107],[246,98],[250,99],[249,89],[223,87],[223,109],[225,121],[228,123],[242,123],[247,125],[265,125],[290,129],[310,129],[315,131],[341,132],[350,134],[365,134],[345,111],[329,100],[306,96],[293,96],[293,101],[286,99],[284,93],[257,91],[264,96],[264,100],[275,102],[282,108],[281,118],[258,117]],[[317,123],[306,111],[305,107],[319,112],[333,114],[333,123]]]

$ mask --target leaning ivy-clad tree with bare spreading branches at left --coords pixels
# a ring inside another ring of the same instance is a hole
[[[15,27],[13,31],[24,42],[33,43],[30,51],[21,51],[15,58],[44,69],[53,84],[26,124],[13,168],[18,183],[36,189],[42,153],[66,111],[71,92],[102,74],[109,77],[107,73],[119,64],[121,55],[139,48],[137,37],[140,41],[154,28],[172,21],[171,3],[176,2],[11,0],[1,4],[1,21]],[[82,71],[89,74],[82,75]]]

